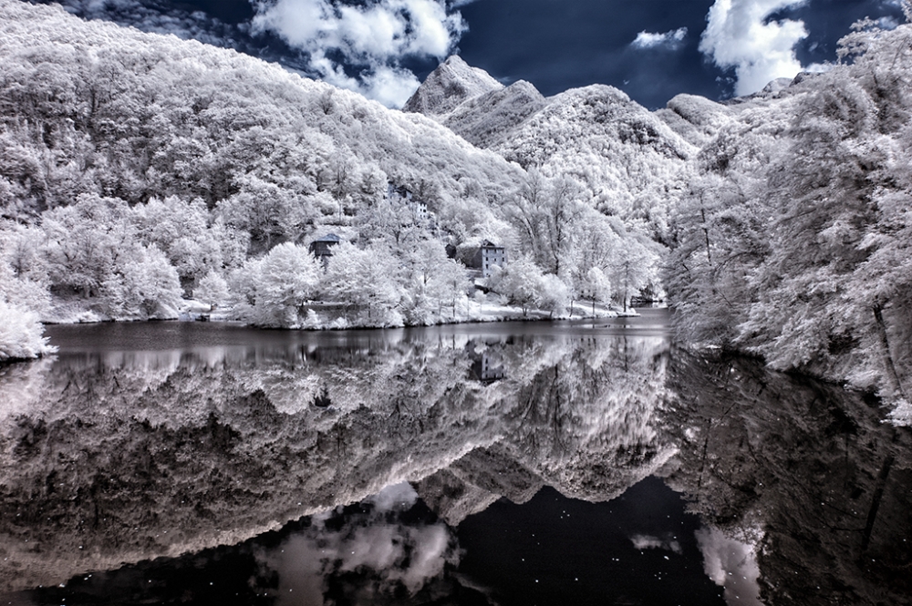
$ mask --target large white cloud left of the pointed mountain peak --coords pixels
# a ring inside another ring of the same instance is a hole
[[[316,76],[398,107],[419,86],[400,66],[407,56],[447,56],[466,30],[461,15],[438,0],[330,0],[259,2],[254,33],[271,31],[310,55]],[[340,59],[340,60],[338,60]],[[345,68],[358,72],[347,75]]]

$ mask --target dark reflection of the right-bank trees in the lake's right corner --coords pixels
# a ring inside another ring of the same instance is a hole
[[[743,359],[675,354],[669,483],[728,536],[759,541],[767,604],[907,604],[912,439],[875,403]]]

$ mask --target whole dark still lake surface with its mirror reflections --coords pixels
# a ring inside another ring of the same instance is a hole
[[[0,604],[912,603],[910,432],[641,313],[49,327]]]

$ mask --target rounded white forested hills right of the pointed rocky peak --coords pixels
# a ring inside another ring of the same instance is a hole
[[[421,111],[523,168],[574,176],[592,192],[599,211],[628,227],[641,223],[650,236],[664,239],[669,205],[698,147],[658,116],[617,88],[575,88],[544,98],[522,80],[458,98],[445,110],[419,102],[444,95],[449,86],[448,73],[435,72],[405,110]]]

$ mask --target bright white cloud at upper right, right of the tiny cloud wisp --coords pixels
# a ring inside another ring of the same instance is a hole
[[[720,67],[735,68],[736,95],[755,93],[777,77],[794,77],[801,71],[794,46],[807,37],[804,23],[766,20],[778,10],[805,2],[716,0],[710,6],[700,52],[711,56]]]

